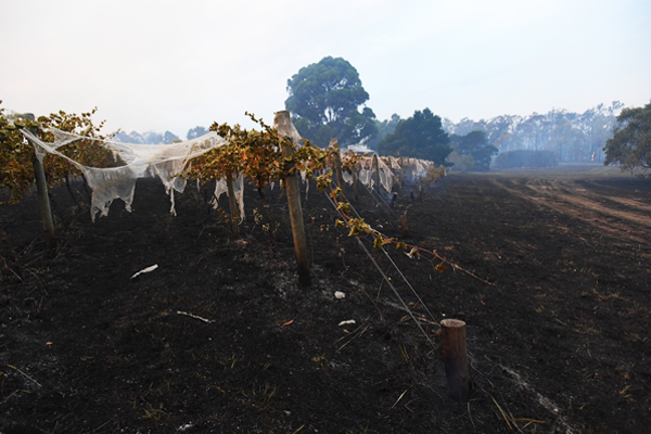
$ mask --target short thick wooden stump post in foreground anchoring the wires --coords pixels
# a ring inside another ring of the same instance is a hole
[[[465,401],[470,383],[465,348],[465,322],[458,319],[444,319],[441,321],[441,335],[448,395],[455,400]]]

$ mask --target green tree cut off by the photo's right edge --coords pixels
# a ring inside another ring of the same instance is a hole
[[[603,151],[604,165],[614,164],[631,174],[637,168],[651,168],[651,102],[620,113],[613,138]]]

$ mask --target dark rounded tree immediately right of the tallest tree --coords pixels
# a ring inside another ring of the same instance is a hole
[[[398,123],[394,132],[380,142],[378,151],[383,155],[423,158],[443,165],[452,152],[449,141],[441,117],[430,108],[422,112],[417,110],[412,117]]]

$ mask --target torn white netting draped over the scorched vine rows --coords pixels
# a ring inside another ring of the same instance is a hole
[[[277,129],[281,136],[290,137],[295,143],[301,143],[301,136],[291,123],[289,115],[277,116]],[[48,128],[53,135],[53,142],[43,142],[35,135],[27,130],[22,130],[23,135],[29,139],[36,151],[37,157],[42,162],[46,154],[54,154],[67,159],[71,164],[78,167],[85,175],[89,187],[92,189],[91,200],[91,218],[94,221],[95,215],[108,215],[108,208],[115,199],[120,199],[125,203],[127,210],[131,210],[133,202],[133,193],[136,189],[136,179],[148,175],[157,176],[163,181],[165,190],[169,195],[171,206],[170,213],[176,215],[175,209],[175,191],[182,193],[186,189],[186,180],[178,175],[181,175],[188,161],[200,156],[212,149],[228,144],[228,141],[216,132],[209,132],[200,138],[177,142],[170,144],[141,144],[141,143],[122,143],[110,140],[101,140],[73,135],[61,131],[55,128]],[[78,140],[94,141],[101,146],[113,152],[117,161],[119,156],[125,165],[122,167],[103,168],[89,167],[76,162],[75,159],[64,155],[59,151],[61,146],[73,143]],[[350,155],[342,155],[342,159],[348,161]],[[360,182],[369,188],[373,188],[375,183],[373,157],[365,156],[358,161],[352,169],[357,173],[357,178]],[[378,158],[378,171],[380,184],[388,192],[393,189],[394,170],[399,173],[403,167],[405,176],[412,180],[418,176],[423,176],[427,169],[433,166],[432,162],[417,158],[395,158],[385,157]],[[306,181],[306,173],[301,171],[303,181]],[[354,174],[350,170],[343,170],[345,182],[353,183]],[[197,181],[199,182],[199,181]],[[199,183],[197,183],[199,186]],[[307,183],[306,199],[309,189]],[[273,188],[273,183],[271,183]],[[244,177],[238,174],[233,182],[235,200],[240,207],[240,221],[244,219]],[[219,196],[222,193],[228,194],[226,179],[220,179],[216,182],[215,196],[210,204],[214,207],[219,206]]]

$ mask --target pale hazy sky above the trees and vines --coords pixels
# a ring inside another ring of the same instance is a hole
[[[380,120],[641,106],[651,1],[0,0],[2,106],[97,106],[110,130],[271,123],[288,79],[328,55],[357,68]]]

